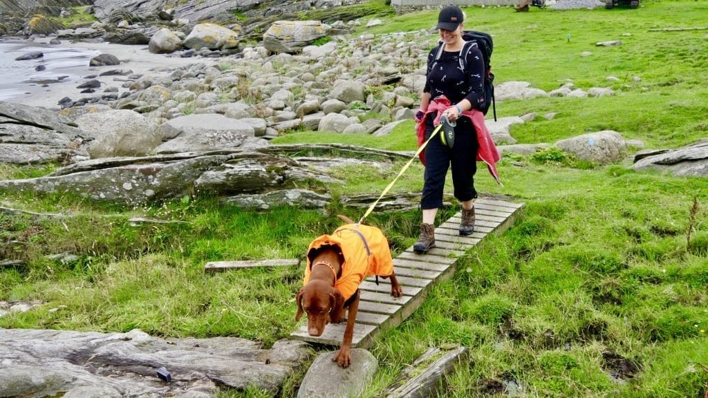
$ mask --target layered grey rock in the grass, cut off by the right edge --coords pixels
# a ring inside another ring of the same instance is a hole
[[[708,176],[708,140],[678,149],[644,150],[634,157],[632,169],[656,169],[674,176]]]

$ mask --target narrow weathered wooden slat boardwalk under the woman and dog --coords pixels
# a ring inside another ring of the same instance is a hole
[[[375,277],[365,279],[359,286],[361,297],[354,326],[352,348],[368,348],[383,330],[404,322],[426,299],[428,290],[440,280],[455,274],[457,258],[490,233],[501,234],[514,222],[523,203],[503,200],[477,199],[474,201],[474,233],[461,237],[457,232],[460,213],[435,228],[435,248],[427,254],[416,254],[413,246],[394,258],[394,271],[403,286],[402,297],[392,297],[388,280]],[[329,324],[319,337],[307,334],[307,317],[299,328],[290,334],[291,339],[309,341],[328,346],[342,342],[346,322]]]

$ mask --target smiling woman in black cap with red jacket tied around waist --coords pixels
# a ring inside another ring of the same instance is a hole
[[[469,47],[466,54],[461,52],[464,46],[462,10],[452,5],[443,8],[436,28],[443,47],[439,58],[438,47],[428,55],[426,86],[421,96],[421,108],[416,113],[418,143],[428,141],[442,115],[456,123],[455,140],[452,148],[441,140],[430,140],[424,157],[421,157],[426,171],[421,196],[421,237],[413,245],[413,251],[418,254],[427,253],[435,247],[435,215],[442,206],[447,169],[452,169],[455,198],[462,205],[459,234],[466,236],[474,232],[476,161],[485,161],[492,175],[497,178],[494,163],[499,159],[484,125],[484,115],[478,110],[484,103],[484,59],[476,45]],[[464,70],[459,62],[461,56],[465,57]]]

